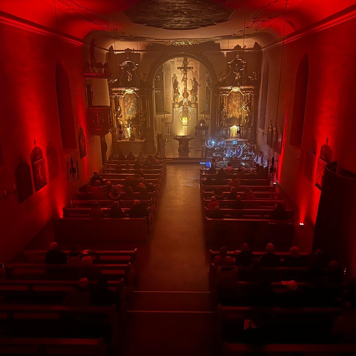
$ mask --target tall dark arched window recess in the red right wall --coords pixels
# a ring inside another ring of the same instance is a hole
[[[297,70],[297,78],[294,90],[292,127],[289,144],[302,145],[304,118],[307,104],[309,82],[309,60],[307,54],[303,57]]]

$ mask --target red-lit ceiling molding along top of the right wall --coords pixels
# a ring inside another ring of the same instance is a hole
[[[355,8],[355,7],[353,6],[353,8]],[[326,18],[326,19],[320,21],[318,23],[318,25],[313,26],[309,30],[301,32],[301,33],[298,33],[296,35],[291,35],[291,36],[287,37],[284,41],[280,40],[275,44],[267,45],[267,46],[263,47],[262,50],[265,52],[267,50],[270,50],[270,49],[273,49],[275,47],[281,46],[283,44],[287,45],[287,44],[292,43],[294,41],[298,41],[298,40],[300,40],[300,39],[302,39],[304,37],[313,35],[315,33],[327,30],[327,29],[329,29],[331,27],[340,25],[340,24],[342,24],[344,22],[353,20],[354,18],[356,18],[356,9],[353,9],[351,12],[348,12],[346,14],[342,14],[342,15],[338,16],[337,18],[334,18],[334,19],[331,19],[331,20],[330,20],[330,18]]]

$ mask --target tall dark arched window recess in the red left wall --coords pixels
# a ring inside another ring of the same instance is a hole
[[[56,65],[55,84],[63,148],[77,148],[69,77],[60,63]]]

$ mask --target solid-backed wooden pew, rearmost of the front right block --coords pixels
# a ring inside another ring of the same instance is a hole
[[[241,246],[247,242],[253,250],[262,250],[268,242],[273,243],[277,250],[286,250],[292,245],[294,236],[291,220],[205,218],[204,231],[208,245],[215,243],[228,248],[229,245]]]

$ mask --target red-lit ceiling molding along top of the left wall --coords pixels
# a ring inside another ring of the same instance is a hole
[[[72,45],[84,45],[83,40],[75,38],[75,37],[71,37],[71,36],[67,36],[64,34],[57,34],[56,32],[53,32],[51,30],[49,30],[48,28],[45,27],[41,27],[38,24],[35,24],[33,22],[30,21],[26,21],[24,19],[20,19],[18,17],[15,16],[11,16],[9,14],[6,14],[7,16],[5,16],[4,12],[0,11],[0,23],[4,24],[4,25],[8,25],[11,27],[15,27],[21,30],[25,30],[25,31],[29,31],[38,35],[43,35],[43,36],[48,36],[48,37],[52,37],[55,39],[60,39],[66,42],[71,43]],[[11,17],[9,17],[11,16]]]

